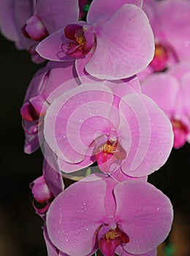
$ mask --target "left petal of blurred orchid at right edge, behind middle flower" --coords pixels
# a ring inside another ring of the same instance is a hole
[[[178,80],[167,73],[159,73],[148,76],[141,85],[142,93],[151,97],[169,118],[175,114],[179,103],[176,100],[180,91]]]

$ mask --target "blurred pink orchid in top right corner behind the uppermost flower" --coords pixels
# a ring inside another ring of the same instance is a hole
[[[142,9],[148,15],[153,29],[155,53],[151,64],[138,74],[140,80],[152,72],[164,71],[190,58],[190,1],[145,0]]]

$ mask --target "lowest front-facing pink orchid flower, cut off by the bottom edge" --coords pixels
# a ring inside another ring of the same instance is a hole
[[[172,205],[145,181],[88,176],[53,200],[46,224],[50,241],[69,256],[97,249],[104,256],[153,256],[170,232]]]

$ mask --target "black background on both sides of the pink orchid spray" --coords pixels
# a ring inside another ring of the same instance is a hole
[[[42,154],[23,153],[20,107],[28,83],[42,65],[33,64],[26,51],[1,37],[1,185],[0,255],[45,256],[40,217],[30,202],[28,184],[42,173]],[[164,167],[149,181],[167,194],[181,226],[189,235],[190,146],[172,150]],[[190,254],[189,254],[190,255]],[[179,256],[181,256],[179,254]]]

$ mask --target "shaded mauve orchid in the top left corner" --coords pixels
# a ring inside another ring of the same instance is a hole
[[[35,48],[42,39],[78,18],[77,0],[1,0],[1,33],[18,49],[31,53],[34,62],[44,61]]]

